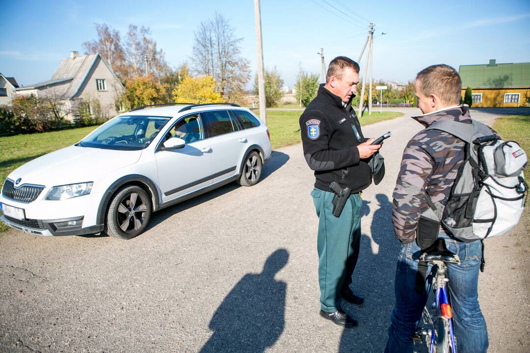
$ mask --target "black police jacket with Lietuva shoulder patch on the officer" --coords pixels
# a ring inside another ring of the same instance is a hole
[[[368,160],[359,159],[356,146],[366,139],[351,99],[345,108],[322,84],[300,116],[305,160],[315,171],[315,187],[324,191],[331,191],[331,182],[350,187],[352,193],[372,183]]]

